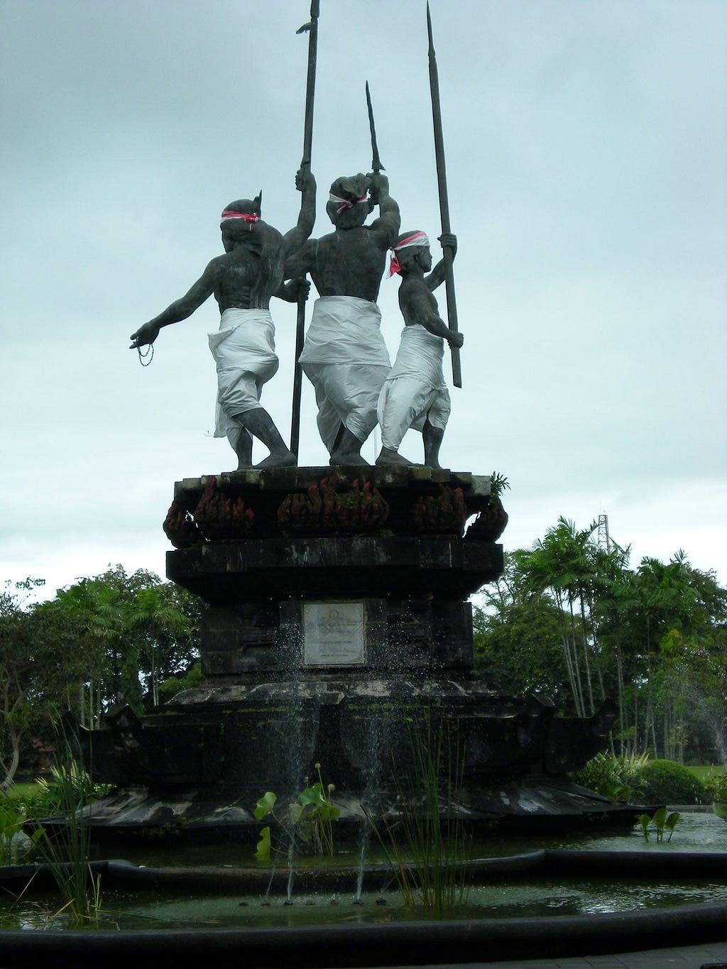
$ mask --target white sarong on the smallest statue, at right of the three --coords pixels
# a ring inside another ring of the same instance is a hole
[[[381,444],[396,451],[410,427],[422,430],[425,422],[442,430],[452,404],[444,379],[444,340],[421,324],[404,327],[392,371],[381,388],[378,419]]]

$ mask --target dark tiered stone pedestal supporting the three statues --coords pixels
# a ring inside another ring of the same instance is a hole
[[[80,736],[96,779],[118,785],[93,806],[98,834],[252,836],[257,798],[295,797],[314,764],[335,785],[336,824],[361,826],[362,803],[372,816],[395,805],[404,725],[425,711],[457,738],[473,827],[630,823],[567,777],[605,746],[613,708],[564,718],[472,672],[467,600],[502,571],[506,520],[489,477],[422,466],[178,482],[167,574],[208,604],[205,678]]]

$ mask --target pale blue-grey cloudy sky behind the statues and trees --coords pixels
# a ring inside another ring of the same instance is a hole
[[[402,229],[435,237],[424,0],[321,8],[314,234],[332,179],[370,168],[368,79]],[[294,225],[308,11],[0,0],[0,579],[52,594],[109,563],[164,575],[174,481],[235,466],[211,436],[213,300],[145,369],[128,337],[222,251],[225,203],[262,188],[267,221]],[[443,462],[508,476],[506,547],[607,514],[632,564],[681,547],[727,583],[727,5],[431,13],[466,339]],[[295,307],[272,309],[263,402],[287,436]],[[326,459],[305,384],[300,463]]]

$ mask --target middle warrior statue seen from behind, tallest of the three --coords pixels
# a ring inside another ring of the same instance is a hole
[[[375,205],[379,217],[364,226]],[[366,464],[361,446],[376,425],[391,366],[376,299],[399,229],[398,205],[386,175],[369,172],[337,178],[326,209],[335,231],[308,239],[286,263],[285,276],[309,272],[318,290],[300,365],[316,391],[318,429],[331,464]]]

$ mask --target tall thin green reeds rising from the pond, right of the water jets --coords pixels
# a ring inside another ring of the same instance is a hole
[[[408,718],[411,766],[394,766],[396,811],[381,819],[386,837],[374,828],[395,873],[404,904],[444,910],[461,905],[469,891],[465,830],[456,792],[464,751],[454,724],[427,708]],[[373,820],[366,812],[373,824]],[[387,844],[388,841],[388,844]]]

